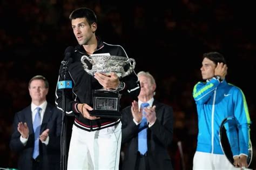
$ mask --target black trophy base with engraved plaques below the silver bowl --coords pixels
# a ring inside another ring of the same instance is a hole
[[[121,118],[119,100],[120,94],[117,91],[96,90],[93,93],[93,110],[89,113],[101,118]]]

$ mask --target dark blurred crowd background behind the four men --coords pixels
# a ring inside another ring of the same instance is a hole
[[[174,169],[192,169],[197,143],[192,90],[201,79],[204,52],[218,51],[227,58],[226,79],[246,96],[251,140],[256,146],[254,5],[231,0],[4,0],[0,2],[0,167],[17,166],[17,155],[9,149],[11,124],[15,112],[31,102],[31,77],[42,74],[48,78],[48,102],[54,104],[64,51],[77,44],[68,17],[82,6],[96,12],[97,35],[107,43],[122,45],[136,60],[136,72],[149,71],[156,78],[155,98],[173,107],[170,155]],[[130,105],[129,99],[122,100],[122,107]],[[256,168],[255,155],[251,168]]]

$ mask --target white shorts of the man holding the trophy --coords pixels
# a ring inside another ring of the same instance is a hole
[[[73,125],[68,169],[118,169],[122,123],[88,132]]]

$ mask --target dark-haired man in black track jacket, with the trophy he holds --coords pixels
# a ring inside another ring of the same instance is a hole
[[[97,18],[92,10],[76,9],[69,18],[78,45],[66,50],[62,63],[67,69],[60,66],[64,71],[56,88],[56,106],[75,116],[68,169],[118,169],[119,99],[121,95],[136,99],[140,92],[135,61],[122,46],[96,37]],[[60,84],[66,82],[69,87],[63,91]]]

